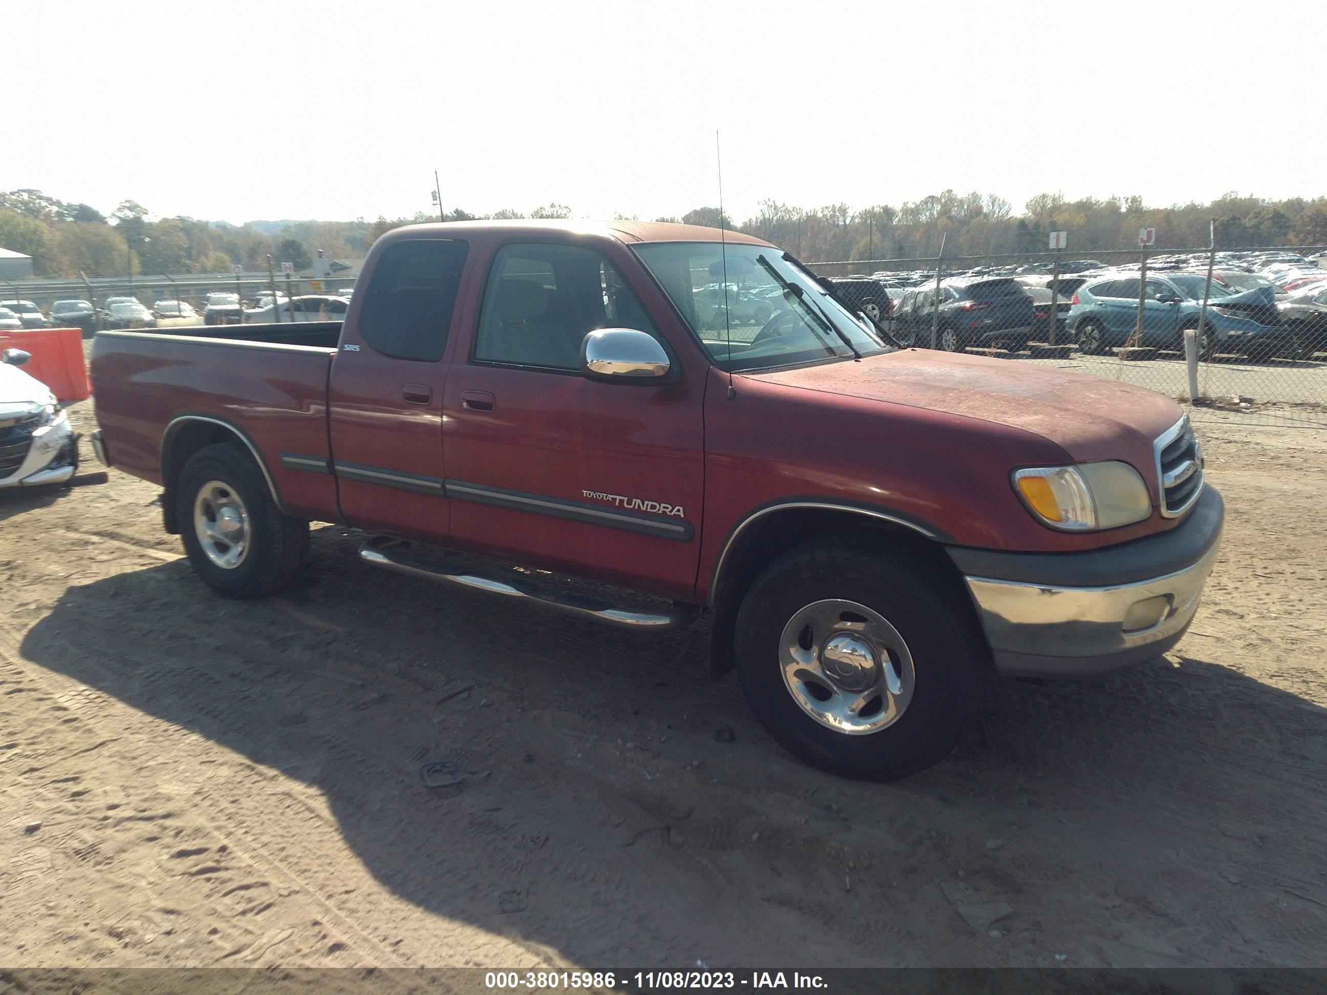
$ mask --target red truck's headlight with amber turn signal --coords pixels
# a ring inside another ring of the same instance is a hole
[[[1013,480],[1032,515],[1062,532],[1119,528],[1152,515],[1148,486],[1128,463],[1015,470]]]

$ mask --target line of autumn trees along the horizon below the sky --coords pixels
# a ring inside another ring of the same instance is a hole
[[[528,215],[515,210],[475,215],[455,208],[445,220],[525,216],[571,218],[572,211],[556,203]],[[330,259],[354,259],[385,231],[438,220],[438,215],[425,212],[373,222],[360,218],[242,226],[183,215],[150,218],[135,200],[121,202],[105,216],[84,203],[66,203],[38,190],[15,190],[0,194],[0,248],[32,256],[36,273],[49,277],[123,276],[126,271],[224,273],[235,264],[261,271],[268,255],[276,263],[293,263],[299,271],[320,249]],[[1141,227],[1157,230],[1158,249],[1193,248],[1208,244],[1212,220],[1217,244],[1223,247],[1327,244],[1327,198],[1267,200],[1238,194],[1170,207],[1148,207],[1139,196],[1066,200],[1059,194],[1039,194],[1023,206],[1022,214],[1014,214],[1013,204],[997,195],[946,190],[900,207],[876,204],[860,210],[845,203],[805,210],[762,200],[756,215],[742,224],[721,218],[717,207],[654,220],[714,227],[722,223],[782,245],[808,263],[934,257],[941,239],[947,257],[1030,253],[1046,249],[1052,231],[1070,233],[1071,255],[1087,255],[1136,247]]]

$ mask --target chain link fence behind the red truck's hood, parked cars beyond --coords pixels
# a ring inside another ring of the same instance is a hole
[[[1327,429],[1320,245],[808,265],[872,317],[888,312],[882,324],[908,345],[1136,383],[1190,405],[1194,421],[1222,409]]]

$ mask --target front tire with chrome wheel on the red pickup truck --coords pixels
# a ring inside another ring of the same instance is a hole
[[[736,670],[791,754],[844,777],[897,780],[974,727],[989,654],[946,574],[855,545],[799,547],[756,578],[736,617]]]

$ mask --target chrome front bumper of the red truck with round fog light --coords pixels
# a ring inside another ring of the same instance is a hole
[[[999,673],[1089,677],[1174,646],[1198,610],[1218,549],[1220,541],[1182,570],[1113,586],[965,580]]]

